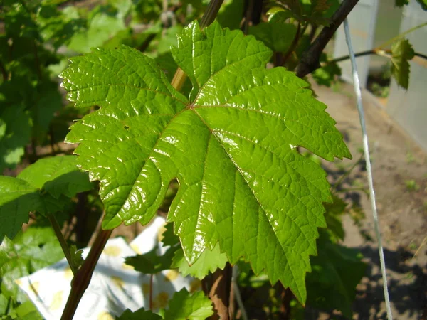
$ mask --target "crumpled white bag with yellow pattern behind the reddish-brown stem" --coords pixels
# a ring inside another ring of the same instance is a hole
[[[108,240],[97,262],[89,287],[75,312],[74,319],[115,319],[125,309],[149,309],[150,275],[125,265],[125,257],[144,254],[157,247],[164,253],[167,247],[159,242],[164,231],[164,218],[154,218],[151,225],[128,245],[122,238]],[[89,248],[83,250],[83,257]],[[73,279],[68,262],[54,265],[16,280],[46,320],[58,320],[65,308]],[[200,288],[198,279],[182,277],[176,270],[164,270],[153,275],[153,311],[167,306],[174,292],[186,288],[193,292]]]

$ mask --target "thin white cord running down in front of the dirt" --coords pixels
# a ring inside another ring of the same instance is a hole
[[[383,278],[383,289],[384,289],[384,299],[386,301],[387,319],[392,320],[393,315],[391,314],[389,289],[387,288],[386,261],[384,260],[384,250],[383,250],[382,241],[381,241],[381,233],[379,232],[378,214],[376,213],[374,182],[372,179],[371,159],[369,156],[367,127],[365,125],[364,111],[363,111],[363,105],[362,105],[362,93],[360,92],[359,75],[357,74],[356,58],[354,57],[354,50],[352,48],[352,39],[350,38],[349,23],[347,21],[347,18],[345,18],[344,20],[344,32],[345,32],[345,40],[347,42],[347,46],[349,47],[350,59],[352,60],[353,85],[354,85],[354,92],[356,93],[356,97],[357,97],[357,110],[359,111],[360,127],[362,127],[363,150],[364,150],[364,156],[367,163],[367,174],[368,174],[368,183],[369,183],[369,195],[370,195],[369,198],[371,200],[372,215],[374,216],[376,239],[378,240],[379,262],[381,263],[381,274]]]

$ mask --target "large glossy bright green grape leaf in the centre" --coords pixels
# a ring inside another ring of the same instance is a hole
[[[102,228],[148,223],[176,178],[168,220],[190,264],[219,241],[231,263],[243,256],[304,301],[330,186],[296,147],[351,157],[334,120],[295,73],[266,70],[271,50],[241,31],[191,23],[172,54],[193,82],[190,101],[126,46],[73,58],[62,74],[77,107],[100,106],[66,142],[100,181]]]

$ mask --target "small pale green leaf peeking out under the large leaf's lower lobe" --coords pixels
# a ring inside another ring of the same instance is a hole
[[[201,253],[199,259],[197,259],[193,265],[189,265],[189,262],[187,262],[184,256],[184,251],[180,247],[175,252],[171,267],[178,268],[179,272],[181,272],[184,277],[190,275],[191,277],[204,279],[209,272],[214,273],[218,268],[223,270],[224,267],[226,267],[227,261],[227,255],[221,253],[219,245],[217,244],[214,250],[206,248],[204,252]]]

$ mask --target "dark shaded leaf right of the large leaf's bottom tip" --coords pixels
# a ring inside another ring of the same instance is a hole
[[[319,255],[312,257],[312,272],[307,274],[307,304],[319,309],[337,309],[352,319],[356,286],[367,265],[361,253],[332,243],[325,231],[317,240]]]

